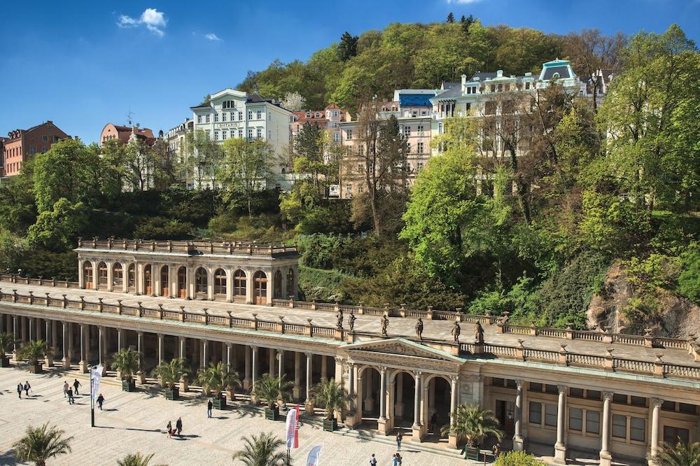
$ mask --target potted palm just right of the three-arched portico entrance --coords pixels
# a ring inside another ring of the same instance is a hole
[[[482,439],[493,435],[498,441],[503,439],[503,430],[499,429],[498,419],[493,411],[482,409],[478,404],[460,404],[454,413],[452,425],[445,425],[440,433],[442,435],[454,435],[457,441],[465,440],[465,453],[467,458],[478,456],[477,448]]]

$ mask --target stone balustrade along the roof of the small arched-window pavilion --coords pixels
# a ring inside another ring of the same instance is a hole
[[[78,248],[106,250],[143,250],[165,253],[217,255],[286,255],[297,253],[296,246],[249,241],[144,241],[142,239],[78,239]]]

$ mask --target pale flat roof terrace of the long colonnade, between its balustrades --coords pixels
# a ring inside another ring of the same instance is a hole
[[[308,311],[305,309],[288,309],[271,306],[254,306],[251,304],[234,304],[211,301],[188,301],[180,298],[148,297],[144,295],[131,295],[121,292],[108,292],[100,290],[76,290],[54,288],[51,286],[25,285],[21,283],[0,282],[3,292],[17,290],[20,295],[27,295],[29,291],[35,296],[43,297],[49,293],[51,297],[60,299],[66,295],[69,299],[80,299],[84,296],[87,301],[97,302],[99,297],[104,298],[106,304],[117,304],[121,299],[125,306],[137,306],[139,302],[144,307],[157,308],[162,304],[164,309],[178,310],[185,306],[186,311],[202,311],[208,309],[212,314],[226,315],[231,311],[232,316],[241,318],[253,318],[253,313],[258,314],[258,319],[279,321],[279,316],[284,316],[287,323],[307,324],[307,319],[313,319],[314,325],[335,327],[335,313],[327,311]],[[414,337],[416,319],[414,318],[390,318],[388,325],[389,337]],[[346,318],[347,321],[347,318]],[[424,322],[423,337],[426,339],[442,339],[451,341],[450,330],[452,322],[447,320],[426,320]],[[461,341],[474,341],[474,325],[462,323]],[[358,332],[373,332],[379,334],[380,324],[377,316],[358,315],[355,322]],[[654,361],[657,354],[664,356],[664,362],[673,364],[699,366],[691,355],[680,349],[646,348],[644,346],[631,346],[624,344],[604,344],[596,341],[566,340],[551,337],[534,337],[517,334],[496,334],[496,325],[484,325],[484,340],[489,344],[517,346],[518,340],[524,340],[527,348],[537,348],[549,351],[559,351],[561,344],[566,344],[567,351],[589,355],[605,355],[605,348],[615,348],[614,355],[617,358],[629,358],[633,360]]]

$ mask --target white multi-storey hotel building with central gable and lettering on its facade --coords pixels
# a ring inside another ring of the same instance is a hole
[[[294,114],[274,99],[227,88],[211,94],[208,102],[190,109],[195,132],[202,130],[217,143],[230,138],[265,139],[279,157],[289,144]],[[281,175],[279,164],[274,164],[273,169],[275,174]],[[286,188],[284,180],[280,179],[280,184]]]

